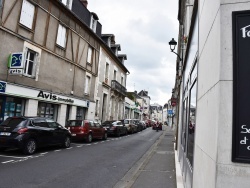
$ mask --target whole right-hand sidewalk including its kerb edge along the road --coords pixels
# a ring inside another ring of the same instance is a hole
[[[183,187],[180,167],[175,163],[174,131],[167,126],[164,129],[158,132],[161,136],[155,144],[124,176],[124,184],[119,183],[115,188]]]

